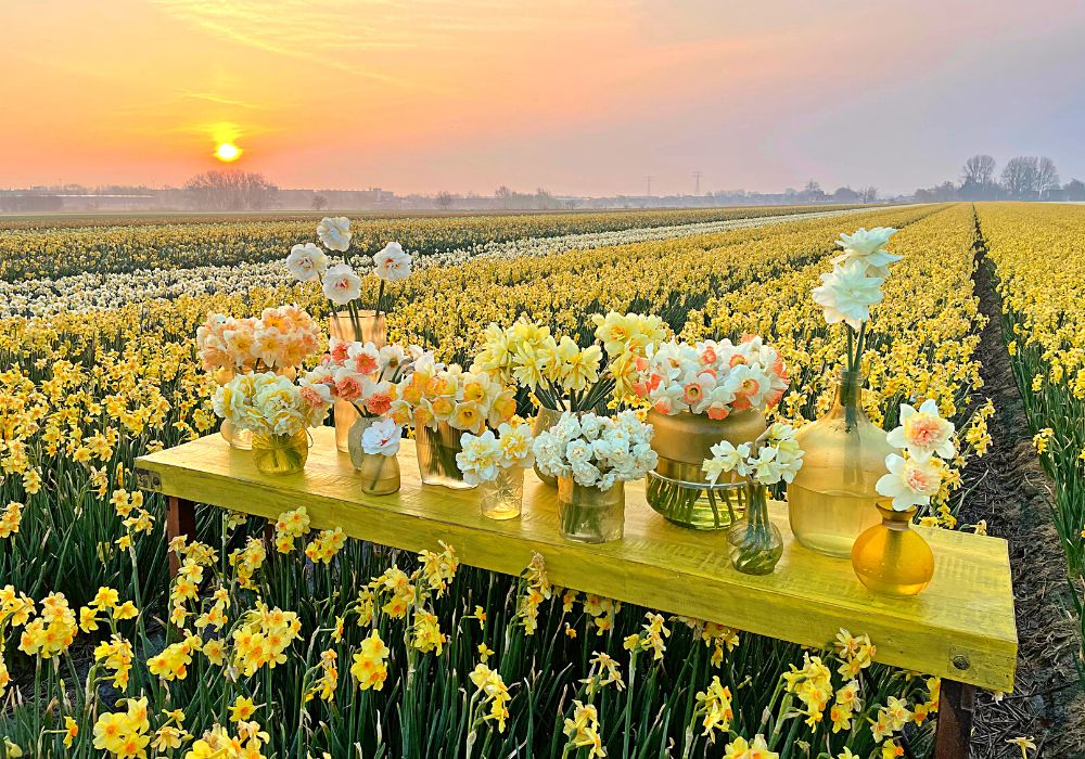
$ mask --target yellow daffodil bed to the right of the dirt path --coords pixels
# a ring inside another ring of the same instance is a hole
[[[1085,633],[1085,208],[982,206],[979,224]]]

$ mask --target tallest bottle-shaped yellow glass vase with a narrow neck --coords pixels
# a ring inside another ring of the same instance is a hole
[[[860,403],[863,375],[840,373],[829,412],[795,436],[805,451],[803,467],[788,486],[791,531],[802,545],[838,558],[878,523],[875,484],[895,452]]]

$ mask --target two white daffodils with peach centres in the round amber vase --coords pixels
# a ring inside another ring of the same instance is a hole
[[[875,489],[893,499],[895,511],[927,505],[942,490],[942,479],[948,468],[939,456],[953,458],[957,452],[953,422],[942,419],[933,399],[919,409],[901,404],[901,425],[885,439],[904,450],[905,455],[885,456],[889,474],[882,475]],[[936,454],[936,455],[935,455]]]

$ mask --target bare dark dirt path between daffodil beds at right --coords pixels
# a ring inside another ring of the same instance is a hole
[[[1024,735],[1037,745],[1030,759],[1085,757],[1085,699],[1074,668],[1077,642],[1063,610],[1070,607],[1065,558],[1051,520],[1048,480],[1032,447],[1003,340],[1000,300],[988,266],[980,259],[974,282],[988,319],[980,358],[984,391],[996,409],[990,423],[993,445],[966,473],[968,486],[975,489],[961,518],[986,519],[991,535],[1009,541],[1019,653],[1014,692],[1000,700],[978,694],[971,751],[983,759],[1020,759],[1021,750],[1006,741]]]

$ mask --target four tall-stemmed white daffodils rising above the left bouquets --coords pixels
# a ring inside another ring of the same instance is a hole
[[[335,307],[346,307],[355,327],[355,339],[361,339],[361,311],[367,306],[361,299],[361,276],[357,270],[372,270],[380,280],[376,299],[372,311],[380,318],[382,310],[387,311],[384,301],[384,286],[387,282],[406,280],[411,272],[411,256],[403,249],[399,243],[388,243],[375,254],[361,254],[355,250],[352,255],[354,233],[350,231],[350,219],[345,216],[324,217],[317,224],[317,237],[329,250],[343,254],[343,260],[331,263],[328,254],[316,243],[298,244],[291,248],[286,256],[286,268],[298,282],[319,280],[324,296]]]

